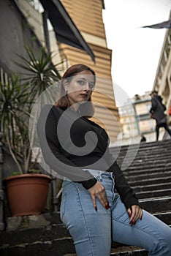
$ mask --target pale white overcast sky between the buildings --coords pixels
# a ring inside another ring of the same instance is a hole
[[[119,86],[128,97],[143,95],[153,89],[167,29],[141,26],[169,20],[171,0],[104,0],[104,6],[114,91]]]

